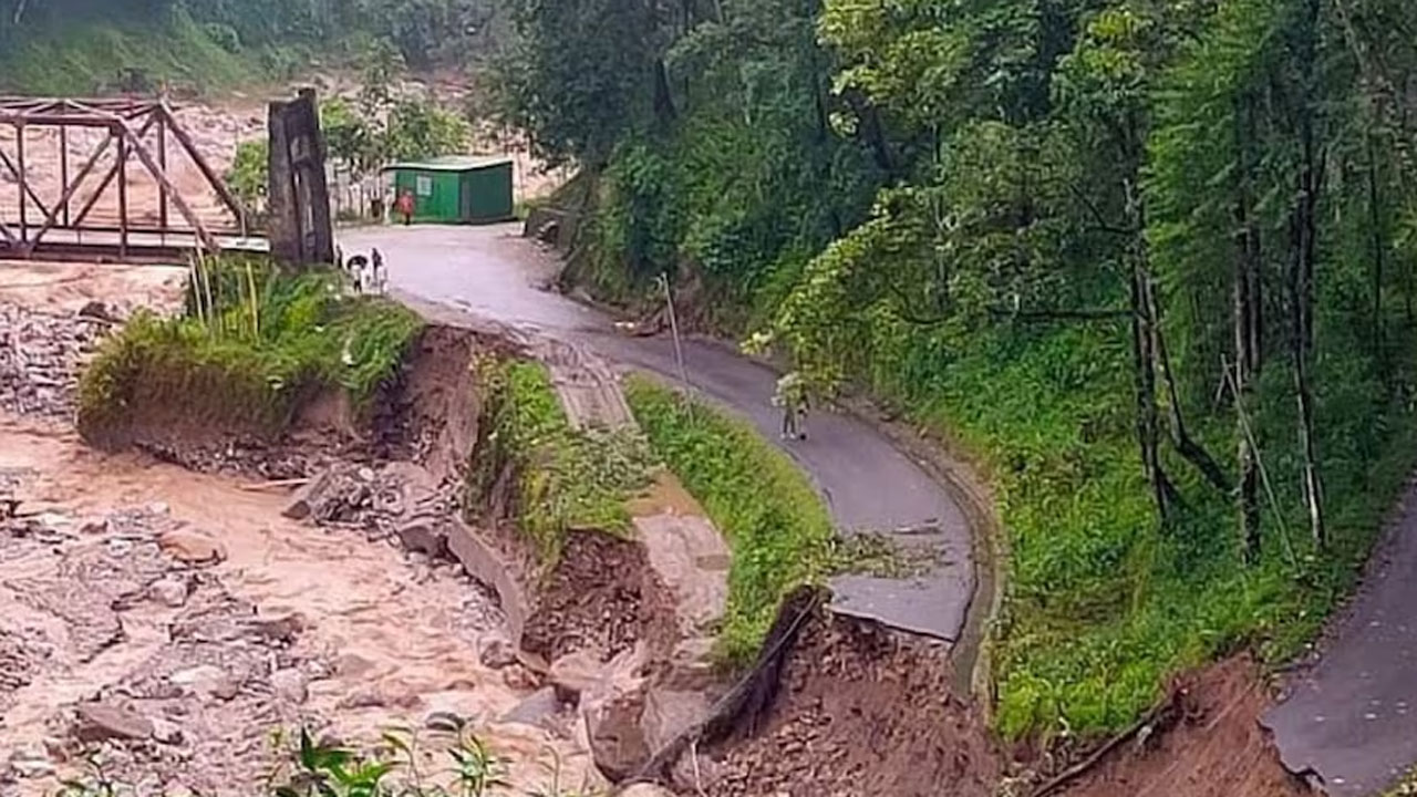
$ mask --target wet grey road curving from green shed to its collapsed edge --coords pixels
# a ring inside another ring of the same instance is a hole
[[[390,285],[424,301],[520,329],[587,343],[604,357],[676,380],[673,343],[616,333],[612,321],[544,286],[557,261],[514,227],[393,227],[341,231],[346,255],[377,247]],[[707,340],[687,340],[691,386],[778,440],[771,407],[777,374]],[[833,608],[956,641],[975,591],[972,535],[945,489],[869,424],[818,413],[811,440],[782,444],[811,475],[845,533],[890,532],[901,545],[939,552],[934,572],[908,580],[843,576]],[[908,529],[908,532],[896,533]]]

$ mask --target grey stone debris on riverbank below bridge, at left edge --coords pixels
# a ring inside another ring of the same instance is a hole
[[[79,364],[109,325],[92,313],[65,316],[0,302],[0,410],[71,417]]]

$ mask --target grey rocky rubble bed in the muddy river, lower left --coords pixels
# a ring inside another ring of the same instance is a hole
[[[111,668],[11,732],[0,793],[92,756],[142,794],[222,793],[268,771],[272,728],[322,725],[303,703],[333,671],[329,654],[302,647],[300,617],[262,615],[228,591],[211,570],[227,556],[220,540],[164,506],[0,519],[0,606],[14,607],[0,614],[0,712],[21,691]]]

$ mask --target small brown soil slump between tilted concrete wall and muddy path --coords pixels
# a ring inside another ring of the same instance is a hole
[[[521,647],[555,661],[592,650],[602,661],[645,641],[667,652],[677,637],[673,597],[655,576],[645,549],[599,532],[571,533],[561,562],[541,589]],[[656,657],[657,658],[657,657]]]

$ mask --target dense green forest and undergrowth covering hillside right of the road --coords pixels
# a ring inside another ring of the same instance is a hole
[[[1302,648],[1413,465],[1417,7],[507,0],[572,277],[667,272],[954,435],[1009,529],[996,722]]]

